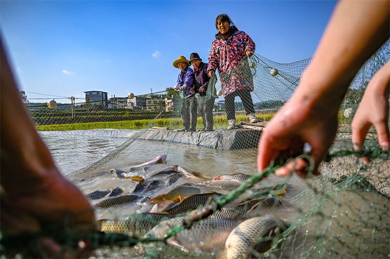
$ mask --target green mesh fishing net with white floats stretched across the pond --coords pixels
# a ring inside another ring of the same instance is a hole
[[[185,210],[182,212],[185,214],[175,214],[172,219],[164,218],[171,222],[160,236],[144,236],[147,232],[142,227],[162,221],[145,214],[149,213],[149,207],[138,204],[131,209],[98,208],[98,218],[111,220],[105,224],[112,225],[106,228],[105,235],[84,237],[95,245],[94,258],[240,258],[237,254],[232,256],[232,251],[242,251],[251,245],[242,258],[389,258],[389,152],[378,146],[372,127],[365,151],[355,152],[351,144],[353,114],[368,82],[389,58],[387,41],[356,74],[340,108],[337,138],[327,161],[320,166],[321,175],[307,181],[294,175],[275,177],[272,173],[279,165],[257,173],[256,155],[267,121],[292,96],[311,59],[280,64],[254,54],[222,78],[215,74],[205,96],[188,98],[184,91],[172,87],[133,99],[75,104],[71,109],[61,109],[61,105],[54,109],[30,107],[30,114],[55,160],[77,156],[78,160],[87,161],[83,167],[62,172],[84,188],[84,192],[93,190],[91,184],[84,183],[96,175],[124,172],[135,176],[133,172],[137,171],[132,171],[132,167],[159,155],[166,155],[165,167],[182,166],[187,173],[200,172],[205,177],[234,173],[251,176],[246,181],[236,180],[240,183],[238,188],[209,188],[208,191],[223,195],[195,202],[197,206],[191,211],[201,208],[197,214]],[[227,87],[232,82],[247,90],[240,96],[229,97]],[[229,104],[229,98],[234,105]],[[125,102],[127,108],[118,108],[120,102]],[[109,103],[117,107],[108,108]],[[196,106],[195,111],[191,110],[191,104]],[[227,117],[232,113],[235,121],[230,123]],[[191,125],[193,121],[196,127]],[[230,126],[233,129],[226,130]],[[63,138],[66,141],[61,141]],[[97,142],[100,144],[92,145]],[[59,145],[69,148],[61,149]],[[88,145],[93,148],[88,149]],[[371,162],[366,165],[359,156],[369,156]],[[309,155],[305,158],[311,159]],[[150,167],[157,171],[163,168]],[[142,168],[144,174],[152,170]],[[309,175],[311,172],[309,168]],[[194,179],[181,184],[200,182]],[[133,180],[131,184],[134,185]],[[133,187],[128,187],[128,192]],[[157,188],[148,195],[163,195],[171,188]],[[249,197],[260,199],[257,205],[260,210],[256,212],[253,208],[251,211],[255,212],[248,213],[249,207],[243,209],[246,205],[239,205],[250,200]],[[267,207],[270,198],[280,203]],[[258,231],[255,234],[245,232],[244,225],[238,226],[254,218],[256,221],[250,228]],[[134,225],[142,231],[131,228]],[[109,230],[113,228],[116,233]],[[227,237],[239,231],[245,234]],[[253,235],[255,244],[244,238]],[[222,237],[241,245],[228,249],[222,242],[218,246],[217,240],[223,240]],[[68,238],[74,237],[68,234]],[[210,243],[215,249],[207,246]]]

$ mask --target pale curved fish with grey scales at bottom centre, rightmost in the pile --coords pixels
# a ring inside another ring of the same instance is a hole
[[[289,227],[281,220],[268,216],[254,217],[240,223],[225,242],[227,259],[246,259],[269,249],[272,238]]]

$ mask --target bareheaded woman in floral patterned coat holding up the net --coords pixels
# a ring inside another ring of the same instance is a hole
[[[233,24],[231,26],[231,24]],[[225,97],[226,116],[229,121],[228,129],[235,128],[236,96],[241,98],[246,113],[251,122],[257,122],[251,92],[254,90],[253,77],[248,62],[241,60],[250,57],[255,50],[255,44],[245,32],[238,31],[230,17],[222,14],[216,17],[215,27],[219,31],[215,35],[209,54],[208,74],[213,77],[218,69],[223,96]]]

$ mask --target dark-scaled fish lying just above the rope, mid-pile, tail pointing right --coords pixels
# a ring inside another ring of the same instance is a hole
[[[217,193],[214,191],[190,195],[190,196],[184,198],[183,200],[181,200],[175,206],[164,210],[164,212],[167,212],[170,214],[178,214],[178,213],[186,212],[188,210],[197,209],[200,206],[205,206],[206,204],[208,204],[208,202],[210,202],[210,199],[213,196],[221,196],[221,195],[225,196],[224,194]]]

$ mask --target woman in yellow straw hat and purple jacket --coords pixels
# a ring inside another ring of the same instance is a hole
[[[185,91],[185,97],[181,102],[180,115],[184,128],[179,131],[195,131],[197,122],[198,102],[193,92],[197,92],[194,84],[194,70],[191,69],[190,61],[185,56],[179,56],[173,63],[176,69],[180,69],[177,76],[177,86],[180,91]],[[191,120],[190,120],[191,114]],[[191,123],[190,123],[191,121]]]

